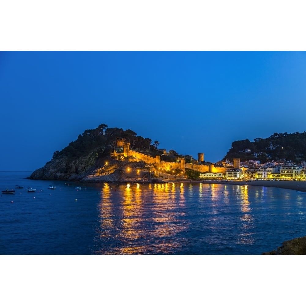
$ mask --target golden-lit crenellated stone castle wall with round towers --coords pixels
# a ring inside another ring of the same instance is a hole
[[[186,163],[185,158],[179,158],[178,162],[166,162],[160,159],[160,155],[152,157],[144,153],[139,153],[130,149],[129,142],[123,142],[123,153],[117,153],[114,151],[114,156],[117,158],[122,157],[134,157],[143,160],[148,165],[153,165],[156,168],[164,170],[180,169],[185,173],[186,169],[193,169],[199,172],[211,172],[211,173],[222,173],[226,174],[226,170],[233,169],[235,165],[239,165],[240,159],[234,160],[234,166],[230,165],[218,165],[214,163],[204,163],[204,153],[198,153],[198,161],[193,161],[191,163]],[[239,166],[237,167],[239,168]]]

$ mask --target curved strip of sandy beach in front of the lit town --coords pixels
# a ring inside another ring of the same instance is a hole
[[[306,181],[202,181],[202,180],[180,180],[180,179],[168,179],[165,182],[177,182],[177,183],[204,183],[204,184],[223,184],[223,185],[249,185],[249,186],[263,186],[263,187],[276,187],[297,190],[300,192],[306,192]]]

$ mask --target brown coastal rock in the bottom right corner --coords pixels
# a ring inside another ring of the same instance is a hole
[[[284,241],[282,246],[262,255],[306,255],[306,236]]]

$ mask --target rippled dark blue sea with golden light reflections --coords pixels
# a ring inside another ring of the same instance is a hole
[[[306,193],[28,180],[0,171],[0,254],[261,254],[306,234]],[[55,190],[47,189],[49,185]],[[82,187],[76,190],[75,187]]]

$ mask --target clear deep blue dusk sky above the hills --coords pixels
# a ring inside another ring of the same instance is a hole
[[[36,170],[85,129],[131,129],[205,161],[235,140],[303,132],[306,53],[0,53],[0,170]]]

